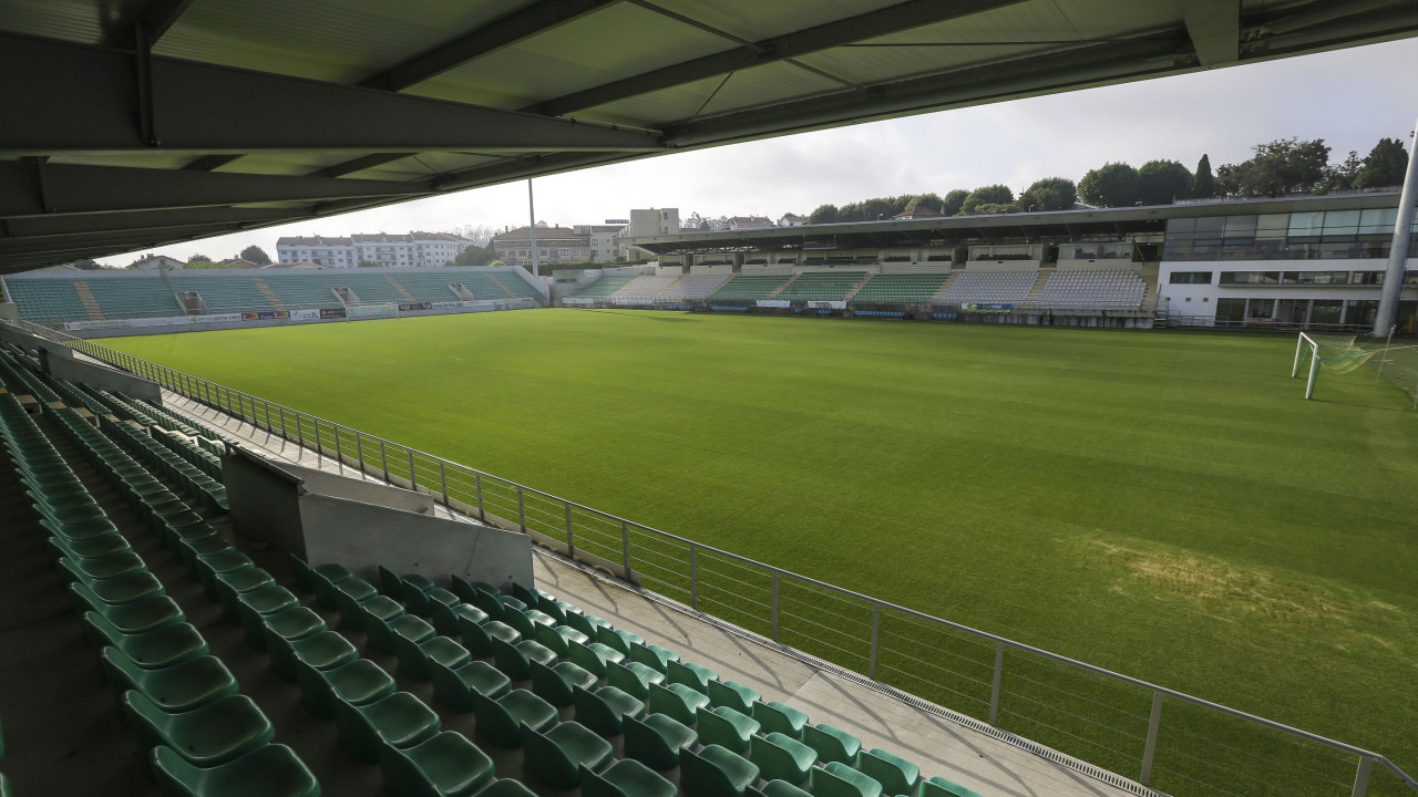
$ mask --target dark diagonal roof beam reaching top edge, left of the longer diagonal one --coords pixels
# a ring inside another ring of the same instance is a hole
[[[475,31],[445,41],[427,52],[420,52],[397,67],[370,75],[360,85],[381,91],[403,91],[448,69],[458,68],[474,58],[496,52],[618,1],[542,0]]]

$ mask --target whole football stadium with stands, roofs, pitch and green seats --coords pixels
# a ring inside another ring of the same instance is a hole
[[[1411,3],[0,9],[4,797],[1418,791],[1418,160],[550,275],[52,268]]]

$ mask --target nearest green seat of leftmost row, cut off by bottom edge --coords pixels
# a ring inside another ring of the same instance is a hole
[[[285,745],[267,745],[225,764],[201,769],[172,747],[155,747],[149,762],[164,796],[316,797],[320,784]]]

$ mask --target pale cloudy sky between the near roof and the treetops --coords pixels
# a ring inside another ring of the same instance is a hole
[[[550,224],[625,218],[632,207],[681,217],[810,214],[824,203],[1004,183],[1020,193],[1041,177],[1079,180],[1123,160],[1180,160],[1194,169],[1245,160],[1280,138],[1324,139],[1330,160],[1363,157],[1381,138],[1408,146],[1418,116],[1418,40],[1371,44],[994,105],[942,111],[668,155],[533,182]],[[526,182],[174,244],[187,260],[233,257],[257,244],[272,258],[281,235],[445,231],[526,225]],[[101,258],[126,265],[140,252]]]

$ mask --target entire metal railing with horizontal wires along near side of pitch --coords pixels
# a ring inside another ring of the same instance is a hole
[[[917,695],[1115,786],[1173,794],[1400,794],[1380,753],[873,598],[268,401],[40,325],[33,333],[150,379],[346,467],[537,542],[696,611]],[[1069,762],[1064,762],[1069,763]],[[1385,783],[1371,781],[1388,773]],[[1110,773],[1129,773],[1136,784]]]

